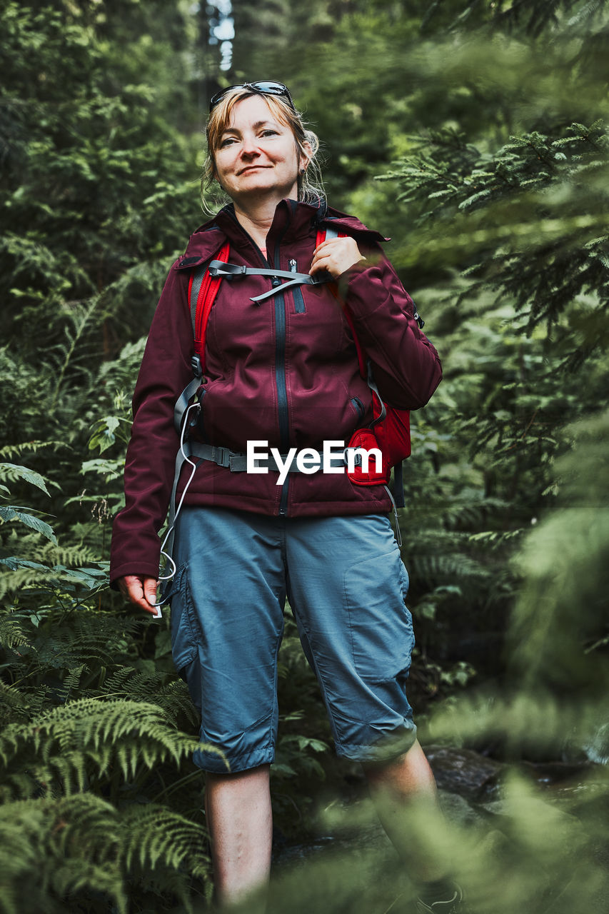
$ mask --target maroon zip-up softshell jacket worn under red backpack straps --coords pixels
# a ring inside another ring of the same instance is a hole
[[[134,426],[124,470],[125,507],[114,520],[112,581],[125,574],[156,577],[178,437],[174,404],[192,379],[190,271],[212,260],[228,239],[230,262],[308,272],[317,228],[332,218],[368,258],[347,272],[347,298],[358,338],[379,391],[400,409],[418,409],[442,377],[433,345],[413,317],[410,296],[379,248],[385,240],[357,218],[283,200],[267,237],[267,257],[240,227],[232,207],[190,237],[169,271],[155,312],[134,393]],[[295,261],[295,265],[294,265]],[[271,288],[265,277],[222,280],[208,322],[203,426],[209,443],[245,452],[247,441],[287,452],[344,440],[371,420],[370,392],[358,371],[356,348],[327,285],[299,286],[260,305],[250,297]],[[183,485],[190,467],[183,470]],[[231,473],[203,462],[187,491],[188,505],[215,505],[265,515],[358,515],[384,512],[382,485],[352,484],[347,473]],[[178,490],[179,492],[179,490]]]

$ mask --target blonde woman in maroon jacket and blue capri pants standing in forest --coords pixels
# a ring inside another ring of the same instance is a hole
[[[192,378],[189,277],[223,244],[237,267],[337,281],[380,393],[393,406],[421,407],[441,377],[411,299],[380,251],[382,237],[327,209],[315,192],[317,140],[288,90],[256,82],[219,92],[207,135],[208,175],[231,202],[191,236],[166,281],[135,389],[126,505],[112,537],[115,586],[151,612],[157,531],[178,447],[174,401]],[[345,237],[316,245],[319,228],[330,225]],[[282,453],[321,451],[324,441],[347,443],[372,419],[336,289],[316,282],[282,292],[280,282],[256,275],[219,284],[194,430],[216,450],[244,453],[257,441]],[[275,287],[272,297],[252,303]],[[200,461],[187,489],[170,595],[174,661],[201,711],[201,740],[218,746],[230,765],[229,772],[212,751],[195,756],[207,771],[216,893],[230,903],[262,884],[270,867],[269,769],[286,594],[337,751],[361,761],[373,792],[391,797],[390,832],[413,795],[433,802],[434,783],[404,690],[413,643],[408,579],[385,488],[354,485],[336,470],[286,473],[279,485],[276,471],[233,472],[220,463]],[[436,910],[433,902],[453,898],[454,887],[442,866],[425,866],[421,910]]]

